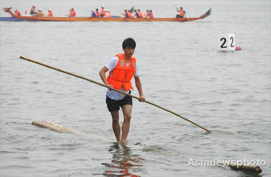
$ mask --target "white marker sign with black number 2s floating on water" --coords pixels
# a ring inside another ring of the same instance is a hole
[[[218,50],[235,50],[235,34],[217,35]]]

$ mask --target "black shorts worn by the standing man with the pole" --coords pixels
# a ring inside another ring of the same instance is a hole
[[[129,94],[131,91],[129,92]],[[133,101],[132,97],[125,96],[122,100],[113,100],[109,97],[106,96],[106,105],[109,110],[109,112],[115,111],[115,110],[120,110],[120,106],[123,105],[132,105],[133,106]]]

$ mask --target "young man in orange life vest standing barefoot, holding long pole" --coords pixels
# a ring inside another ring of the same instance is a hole
[[[122,43],[124,53],[116,54],[99,72],[102,82],[108,87],[106,91],[106,105],[112,116],[112,128],[117,142],[126,142],[130,120],[132,117],[132,97],[126,96],[112,90],[113,88],[126,93],[131,93],[131,79],[135,78],[135,86],[139,93],[140,102],[144,102],[141,82],[138,76],[138,67],[136,59],[133,56],[135,52],[135,40],[127,38]],[[105,72],[109,71],[107,78]],[[119,124],[119,109],[122,109],[124,121],[122,127]],[[122,134],[121,134],[122,131]]]

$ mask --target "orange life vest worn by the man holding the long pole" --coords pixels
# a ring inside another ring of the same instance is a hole
[[[117,54],[115,57],[118,57],[119,61],[116,68],[113,70],[112,76],[111,71],[109,71],[109,75],[107,76],[108,83],[118,90],[121,90],[121,87],[124,88],[124,91],[133,89],[131,79],[135,73],[136,59],[131,57],[130,66],[128,68],[123,53]]]

